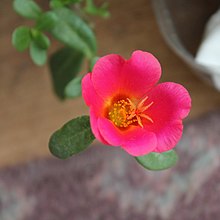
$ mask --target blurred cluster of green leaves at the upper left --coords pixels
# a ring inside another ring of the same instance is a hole
[[[97,57],[96,36],[84,18],[86,14],[107,17],[109,12],[106,4],[96,7],[92,0],[50,0],[49,7],[43,11],[34,0],[14,0],[14,10],[34,25],[17,27],[12,44],[20,52],[29,50],[36,65],[42,66],[49,59],[56,95],[60,99],[75,98],[81,95],[79,73],[84,60],[90,63]],[[63,47],[48,57],[51,38]]]

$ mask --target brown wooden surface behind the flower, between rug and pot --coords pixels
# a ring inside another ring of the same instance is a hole
[[[111,1],[111,18],[97,19],[99,54],[129,57],[136,49],[150,51],[163,68],[163,81],[184,84],[193,99],[188,120],[220,106],[220,94],[201,82],[167,47],[158,30],[150,1]],[[11,1],[0,7],[0,166],[50,156],[50,134],[67,120],[87,114],[82,99],[60,102],[53,94],[47,66],[36,67],[27,53],[10,43],[13,29],[24,23]]]

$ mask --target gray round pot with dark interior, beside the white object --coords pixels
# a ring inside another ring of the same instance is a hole
[[[215,73],[198,64],[195,54],[205,24],[218,9],[220,0],[152,0],[152,5],[168,45],[200,78],[216,87],[213,80]]]

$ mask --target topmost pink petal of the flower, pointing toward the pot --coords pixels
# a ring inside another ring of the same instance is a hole
[[[161,76],[158,60],[148,52],[137,50],[123,68],[123,87],[136,97],[142,97]]]

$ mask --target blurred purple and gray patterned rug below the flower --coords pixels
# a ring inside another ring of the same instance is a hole
[[[0,171],[0,220],[220,219],[220,112],[185,126],[180,161],[144,170],[120,149]]]

